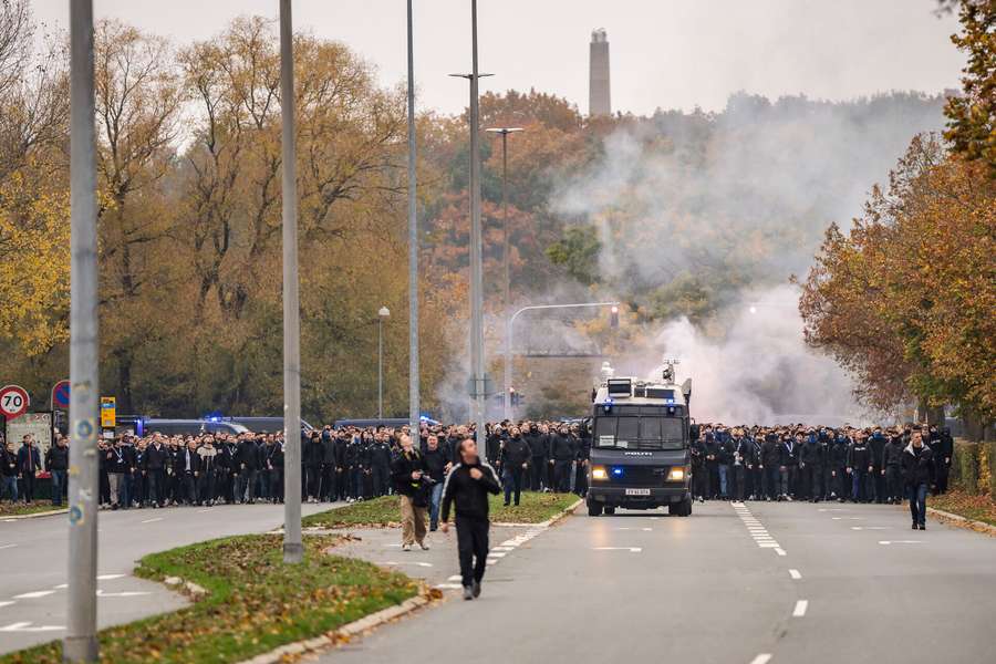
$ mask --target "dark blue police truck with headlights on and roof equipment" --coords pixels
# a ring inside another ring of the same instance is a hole
[[[588,513],[616,508],[692,515],[691,448],[698,438],[688,403],[692,380],[675,381],[677,360],[665,360],[661,380],[616,377],[606,362],[592,390]]]

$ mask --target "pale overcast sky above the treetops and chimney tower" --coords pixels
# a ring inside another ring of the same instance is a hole
[[[65,29],[69,0],[32,0],[35,17]],[[94,0],[97,18],[177,43],[216,34],[235,15],[277,15],[277,0]],[[470,0],[415,0],[421,108],[461,111],[470,66]],[[957,87],[964,59],[952,17],[935,0],[479,0],[481,90],[536,87],[588,111],[588,43],[609,33],[613,111],[720,110],[736,91],[853,98],[890,90]],[[405,75],[404,0],[295,0],[294,23],[341,40]]]

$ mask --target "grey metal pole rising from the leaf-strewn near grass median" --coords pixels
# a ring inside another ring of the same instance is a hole
[[[301,562],[301,309],[298,297],[298,178],[291,0],[280,0],[283,148],[283,561]]]

